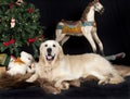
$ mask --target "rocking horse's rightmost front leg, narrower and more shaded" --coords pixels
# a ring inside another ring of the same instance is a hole
[[[100,38],[99,38],[98,34],[96,34],[96,28],[93,28],[92,37],[95,40],[95,42],[98,44],[101,54],[104,55],[103,44],[102,44],[102,41],[100,40]]]

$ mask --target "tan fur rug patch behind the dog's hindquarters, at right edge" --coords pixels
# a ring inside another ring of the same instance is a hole
[[[130,66],[128,66],[128,65],[117,65],[117,64],[114,64],[114,67],[118,71],[118,73],[119,73],[122,77],[130,76]]]

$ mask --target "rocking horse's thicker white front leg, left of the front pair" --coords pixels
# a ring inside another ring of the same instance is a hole
[[[92,50],[93,52],[96,53],[96,45],[92,38],[92,35],[91,35],[91,29],[90,27],[84,27],[82,30],[83,30],[83,36],[88,39],[88,41],[90,42],[91,47],[92,47]]]

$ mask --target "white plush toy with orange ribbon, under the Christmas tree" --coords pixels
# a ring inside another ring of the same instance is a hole
[[[34,63],[34,58],[31,54],[22,51],[21,58],[13,59],[8,65],[8,71],[10,75],[16,75],[16,74],[26,74],[26,73],[32,73],[35,72],[35,69],[31,66]],[[31,67],[30,67],[31,66]]]

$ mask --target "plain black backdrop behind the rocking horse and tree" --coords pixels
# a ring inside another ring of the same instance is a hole
[[[46,26],[44,36],[55,38],[55,26],[62,20],[78,21],[84,8],[92,0],[28,0],[40,9],[41,25]],[[126,58],[116,62],[130,64],[130,1],[101,0],[105,12],[95,13],[98,35],[104,45],[105,55],[126,52]],[[72,37],[64,46],[64,52],[78,54],[92,52],[84,37]]]

